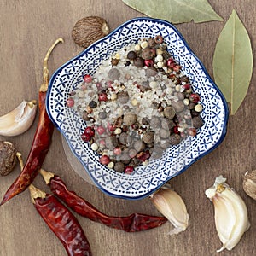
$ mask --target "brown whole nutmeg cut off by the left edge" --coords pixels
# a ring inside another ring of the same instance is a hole
[[[0,142],[0,175],[6,176],[13,171],[16,164],[16,148],[13,143]]]

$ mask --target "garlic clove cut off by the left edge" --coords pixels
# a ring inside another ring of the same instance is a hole
[[[0,135],[12,137],[27,131],[36,116],[36,101],[22,101],[14,110],[0,117]]]

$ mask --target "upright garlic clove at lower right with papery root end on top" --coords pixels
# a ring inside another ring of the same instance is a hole
[[[223,176],[216,177],[213,186],[205,192],[214,205],[215,226],[223,243],[217,252],[232,250],[250,227],[244,201],[225,181]]]

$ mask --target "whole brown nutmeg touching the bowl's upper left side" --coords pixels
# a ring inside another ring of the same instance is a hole
[[[76,44],[87,48],[98,39],[108,35],[110,29],[108,22],[98,16],[88,16],[79,20],[71,32]]]

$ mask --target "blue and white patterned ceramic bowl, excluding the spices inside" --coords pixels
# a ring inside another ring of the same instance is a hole
[[[164,37],[168,50],[183,67],[193,90],[201,95],[204,125],[195,137],[187,137],[179,145],[168,148],[160,159],[150,161],[148,166],[137,167],[131,175],[114,172],[102,166],[99,156],[82,141],[80,134],[84,131],[85,122],[73,108],[67,108],[65,102],[68,93],[83,81],[85,73],[95,73],[102,61],[124,46],[156,35]],[[73,154],[84,166],[84,172],[88,172],[96,186],[108,195],[125,199],[142,199],[152,194],[218,147],[224,140],[228,119],[224,96],[180,32],[165,20],[150,18],[125,22],[58,68],[49,82],[46,107],[49,118],[67,139]]]

